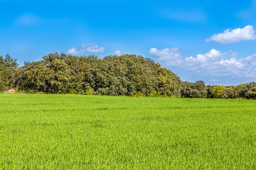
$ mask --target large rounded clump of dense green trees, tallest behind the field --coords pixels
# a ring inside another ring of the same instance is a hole
[[[180,78],[140,55],[74,56],[51,53],[43,60],[25,62],[17,71],[15,85],[45,93],[65,94],[92,89],[101,95],[130,95],[153,91],[165,96],[180,96]]]

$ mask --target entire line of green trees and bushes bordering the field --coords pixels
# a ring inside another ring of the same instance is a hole
[[[172,96],[184,98],[255,99],[256,83],[211,86],[201,80],[182,82],[171,70],[140,55],[67,55],[51,53],[41,61],[24,62],[0,56],[0,92]]]

